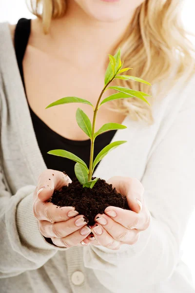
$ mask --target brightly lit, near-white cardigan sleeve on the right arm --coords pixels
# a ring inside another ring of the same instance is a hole
[[[190,102],[188,101],[191,100]],[[179,260],[180,245],[195,209],[195,99],[178,111],[159,140],[142,178],[144,198],[151,213],[150,227],[136,244],[119,251],[85,247],[85,266],[112,293],[167,280]]]

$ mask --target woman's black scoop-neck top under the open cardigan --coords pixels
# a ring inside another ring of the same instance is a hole
[[[20,19],[16,25],[15,30],[15,51],[16,57],[18,61],[18,66],[20,69],[20,75],[22,79],[22,83],[25,90],[24,77],[23,77],[23,68],[22,61],[24,57],[24,53],[26,50],[26,46],[28,44],[28,39],[30,36],[31,30],[31,20]],[[75,162],[61,158],[53,155],[47,154],[49,150],[52,149],[65,149],[77,155],[81,158],[89,167],[89,158],[90,158],[90,139],[85,141],[74,141],[67,139],[55,131],[53,131],[50,127],[48,127],[30,108],[29,110],[31,114],[31,119],[34,127],[34,131],[37,137],[37,142],[45,161],[45,164],[48,168],[66,171],[70,178],[75,177],[74,166]],[[113,136],[115,135],[116,130],[111,130],[105,133],[100,134],[95,140],[94,146],[94,158],[100,152],[100,150],[110,144]]]

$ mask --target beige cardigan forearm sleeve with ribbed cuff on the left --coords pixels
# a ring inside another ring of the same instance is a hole
[[[0,278],[35,270],[46,263],[58,250],[39,231],[33,214],[35,186],[20,188],[12,195],[0,173]]]

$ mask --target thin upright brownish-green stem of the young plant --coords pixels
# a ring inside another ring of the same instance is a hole
[[[111,81],[108,83],[110,84],[113,80],[114,80],[115,76],[111,79]],[[92,173],[93,173],[93,161],[94,161],[94,133],[95,133],[95,125],[96,125],[96,116],[97,116],[97,112],[98,112],[98,105],[99,102],[101,100],[101,97],[106,89],[106,87],[108,86],[108,84],[106,84],[104,86],[104,88],[102,89],[99,98],[98,98],[98,102],[96,104],[96,108],[94,110],[94,117],[93,117],[93,123],[92,123],[92,137],[91,137],[91,150],[90,150],[90,161],[89,161],[89,174],[88,174],[88,181],[92,180]]]

